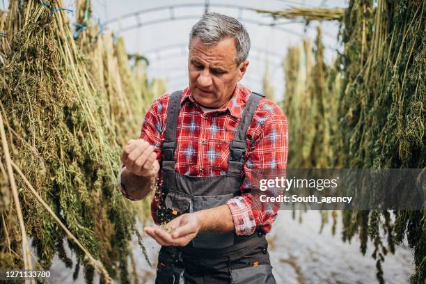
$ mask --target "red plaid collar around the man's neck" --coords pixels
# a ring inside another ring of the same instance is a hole
[[[235,118],[242,118],[241,109],[246,104],[246,97],[248,96],[247,93],[250,93],[250,90],[237,84],[234,93],[232,93],[232,96],[230,97],[229,102],[227,102],[223,107],[217,109],[216,111],[228,110],[231,116],[234,116]],[[194,99],[194,95],[191,93],[189,87],[185,88],[182,92],[182,97],[180,99],[180,107],[182,107],[182,104],[184,104],[186,100],[189,100],[194,104],[198,105],[198,102],[196,102],[196,100]]]

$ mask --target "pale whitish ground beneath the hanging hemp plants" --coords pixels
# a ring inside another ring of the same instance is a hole
[[[342,242],[339,233],[334,236],[331,234],[331,223],[326,224],[319,234],[319,212],[304,212],[302,223],[293,220],[291,216],[292,212],[279,212],[278,219],[267,235],[277,283],[377,283],[375,261],[370,257],[372,244],[369,244],[363,256],[358,239],[353,239],[350,244]],[[339,232],[339,228],[336,232]],[[152,267],[143,258],[136,239],[132,241],[132,246],[139,283],[149,284],[155,280],[159,245],[148,236],[144,242]],[[387,255],[383,263],[386,283],[408,283],[413,268],[413,256],[409,248],[397,246],[395,255]],[[57,259],[52,265],[51,274],[49,283],[74,283],[72,270]],[[84,283],[81,272],[77,283]]]

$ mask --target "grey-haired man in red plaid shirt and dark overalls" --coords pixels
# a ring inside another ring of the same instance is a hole
[[[286,118],[240,86],[250,38],[237,19],[206,13],[191,29],[189,88],[156,100],[125,146],[120,189],[144,198],[159,244],[156,283],[275,283],[265,234],[279,203],[261,206],[253,175],[287,164]],[[181,281],[181,282],[180,282]]]

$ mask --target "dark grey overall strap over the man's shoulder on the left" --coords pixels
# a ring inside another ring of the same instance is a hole
[[[181,95],[182,90],[178,90],[172,93],[168,100],[166,138],[161,145],[161,152],[163,153],[162,166],[164,171],[175,171],[176,129],[178,128]]]

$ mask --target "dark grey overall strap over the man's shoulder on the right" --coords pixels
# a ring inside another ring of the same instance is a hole
[[[244,154],[247,150],[247,129],[251,125],[254,113],[263,95],[251,92],[244,113],[237,126],[234,139],[230,143],[230,155],[228,159],[228,173],[240,173],[244,164]]]

